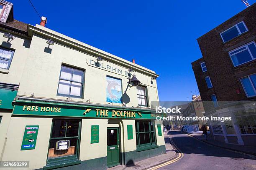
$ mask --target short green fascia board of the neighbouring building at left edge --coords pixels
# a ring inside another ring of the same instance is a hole
[[[13,109],[12,102],[17,95],[17,90],[0,88],[0,109]]]

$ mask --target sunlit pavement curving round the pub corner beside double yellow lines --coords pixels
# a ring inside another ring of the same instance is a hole
[[[170,135],[167,135],[167,133],[165,132],[164,140],[166,154],[144,159],[129,165],[118,165],[112,168],[108,168],[108,170],[145,170],[155,165],[159,165],[161,163],[172,160],[176,157],[176,150],[174,149],[174,146],[172,145],[169,137]]]

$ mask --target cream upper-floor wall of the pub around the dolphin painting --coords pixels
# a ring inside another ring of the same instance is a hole
[[[57,43],[50,46],[52,49],[51,54],[46,53],[44,52],[44,48],[48,47],[46,41],[47,40],[42,37],[33,35],[18,95],[31,96],[31,94],[34,93],[35,97],[66,99],[67,97],[57,96],[62,63],[85,70],[84,96],[82,99],[71,98],[70,100],[86,101],[90,99],[90,102],[108,104],[108,102],[106,102],[107,75],[122,79],[122,90],[124,93],[128,85],[127,76],[93,67],[90,65],[90,60],[96,61],[95,57]],[[123,70],[123,73],[128,70],[128,68],[120,67],[119,65],[105,60],[100,63],[105,66],[110,65],[119,68]],[[156,80],[153,80],[154,83],[152,85],[150,76],[139,72],[133,72],[133,74],[141,81],[141,85],[148,87],[148,98],[154,101],[158,100]],[[128,89],[127,94],[131,99],[127,106],[138,106],[136,87]],[[120,104],[114,103],[114,105]]]

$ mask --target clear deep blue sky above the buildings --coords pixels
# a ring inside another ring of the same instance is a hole
[[[161,101],[199,93],[191,67],[202,57],[197,38],[246,8],[241,0],[31,1],[48,28],[156,71]],[[15,19],[40,23],[28,0],[10,2]]]

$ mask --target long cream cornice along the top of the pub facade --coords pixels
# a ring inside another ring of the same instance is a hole
[[[122,65],[127,68],[132,68],[133,70],[135,70],[137,72],[141,72],[141,73],[143,73],[145,75],[149,75],[151,77],[159,77],[159,75],[156,74],[152,70],[149,70],[145,67],[137,65],[133,62],[124,60],[123,58],[112,55],[103,50],[97,49],[95,47],[87,45],[87,44],[80,42],[78,40],[75,40],[73,38],[67,37],[66,35],[60,34],[59,32],[55,32],[55,31],[50,30],[49,28],[45,28],[41,25],[33,26],[33,25],[28,24],[27,30],[28,30],[28,36],[30,36],[30,37],[32,37],[33,34],[42,35],[42,36],[52,39],[54,41],[58,41],[63,44],[66,44],[69,47],[74,47],[74,49],[79,49],[79,50],[88,52],[89,55],[93,55],[95,57],[100,56],[100,57],[102,57],[102,59],[108,60],[109,62],[113,62],[113,63]]]

